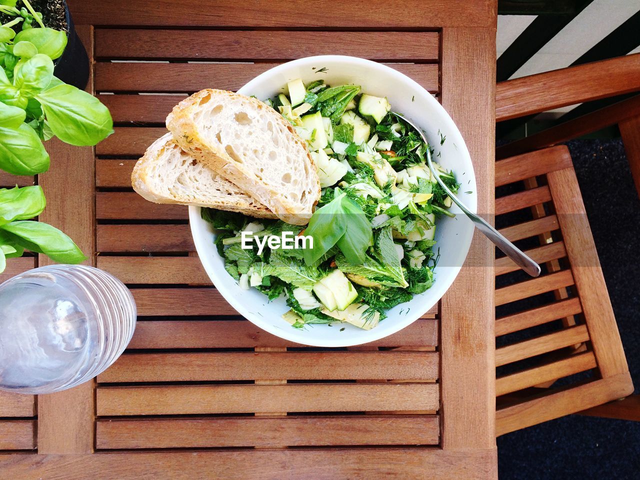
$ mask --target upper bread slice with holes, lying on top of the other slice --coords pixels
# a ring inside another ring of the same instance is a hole
[[[289,122],[260,100],[202,90],[166,118],[173,138],[278,218],[308,223],[320,198],[316,166]]]

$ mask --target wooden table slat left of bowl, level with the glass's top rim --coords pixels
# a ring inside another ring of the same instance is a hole
[[[98,257],[98,268],[125,284],[210,285],[198,257]]]

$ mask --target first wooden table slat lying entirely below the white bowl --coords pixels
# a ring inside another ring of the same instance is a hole
[[[122,355],[99,382],[436,380],[437,352],[216,352]]]

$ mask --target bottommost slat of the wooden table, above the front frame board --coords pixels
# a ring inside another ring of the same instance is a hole
[[[115,420],[96,424],[99,449],[435,445],[437,415]]]

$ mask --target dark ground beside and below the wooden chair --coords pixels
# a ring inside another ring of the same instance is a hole
[[[640,200],[620,140],[568,144],[640,393]],[[640,422],[570,415],[497,439],[500,480],[640,480]]]

